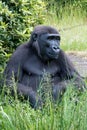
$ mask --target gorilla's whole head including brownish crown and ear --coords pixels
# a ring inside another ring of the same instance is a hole
[[[36,26],[31,38],[33,46],[43,60],[58,58],[60,35],[57,30],[49,26]]]

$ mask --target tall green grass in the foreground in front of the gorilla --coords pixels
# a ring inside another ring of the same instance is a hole
[[[87,92],[77,97],[68,88],[61,103],[49,102],[42,110],[34,110],[28,101],[20,102],[6,95],[0,99],[0,130],[86,130],[86,97]]]

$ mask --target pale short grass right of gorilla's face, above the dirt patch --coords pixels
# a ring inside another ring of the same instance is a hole
[[[76,24],[77,25],[77,24]],[[62,31],[61,47],[67,51],[87,51],[87,25]]]

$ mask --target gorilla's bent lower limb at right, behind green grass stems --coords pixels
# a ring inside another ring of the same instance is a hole
[[[80,77],[74,78],[72,80],[65,80],[53,86],[53,99],[55,101],[61,99],[68,86],[74,87],[76,90],[78,90],[78,92],[82,92],[87,89],[87,86]]]

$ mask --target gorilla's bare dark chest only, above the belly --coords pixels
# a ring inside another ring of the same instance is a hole
[[[44,73],[54,76],[59,72],[59,68],[54,61],[44,63],[36,58],[29,59],[24,68],[27,74],[36,76],[43,76]]]

